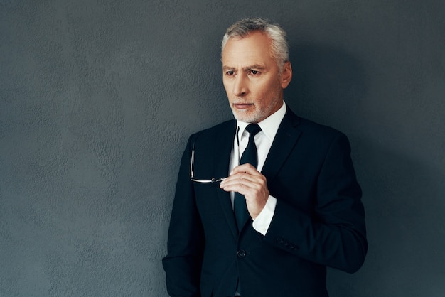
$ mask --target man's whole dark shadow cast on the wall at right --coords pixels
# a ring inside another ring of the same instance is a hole
[[[302,43],[291,48],[291,63],[287,104],[301,117],[348,134],[363,188],[368,257],[356,274],[329,269],[331,296],[443,296],[443,168],[407,148],[391,151],[389,146],[402,147],[397,139],[388,146],[375,140],[379,132],[372,126],[379,119],[366,110],[372,98],[360,60],[337,48]]]

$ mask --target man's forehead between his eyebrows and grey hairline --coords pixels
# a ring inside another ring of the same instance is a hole
[[[262,32],[250,33],[245,38],[230,38],[222,53],[223,65],[268,63],[272,58],[271,40]]]

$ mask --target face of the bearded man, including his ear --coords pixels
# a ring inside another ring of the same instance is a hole
[[[223,49],[223,83],[239,121],[258,123],[282,107],[291,64],[286,62],[280,74],[270,43],[266,34],[254,32],[245,38],[230,38]]]

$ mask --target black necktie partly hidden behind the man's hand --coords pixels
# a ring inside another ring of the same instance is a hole
[[[250,165],[257,168],[258,166],[258,153],[257,146],[255,145],[254,137],[261,131],[261,128],[257,124],[249,124],[246,127],[247,132],[249,132],[249,143],[242,153],[240,158],[240,165],[249,163]],[[245,224],[247,218],[249,217],[249,212],[247,212],[246,199],[244,195],[235,192],[235,200],[233,201],[233,211],[235,212],[235,219],[237,220],[238,231],[241,231],[242,226]]]

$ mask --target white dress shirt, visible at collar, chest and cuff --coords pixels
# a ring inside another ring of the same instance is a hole
[[[282,107],[278,109],[277,112],[274,112],[274,114],[271,114],[269,117],[258,123],[259,127],[262,129],[262,131],[259,131],[258,134],[255,135],[255,145],[257,146],[258,152],[257,169],[259,172],[261,172],[264,166],[267,154],[269,153],[272,142],[277,134],[279,124],[281,124],[284,118],[284,114],[286,114],[286,103],[283,103]],[[229,171],[232,171],[233,168],[239,165],[242,153],[247,147],[249,142],[249,132],[245,129],[248,124],[250,123],[237,121],[237,134],[235,134],[235,139],[233,140]],[[230,199],[232,200],[233,206],[235,193],[230,193]],[[266,234],[270,222],[272,222],[272,217],[274,217],[275,205],[277,205],[277,199],[269,195],[266,205],[253,222],[253,227],[257,232],[263,235]]]

